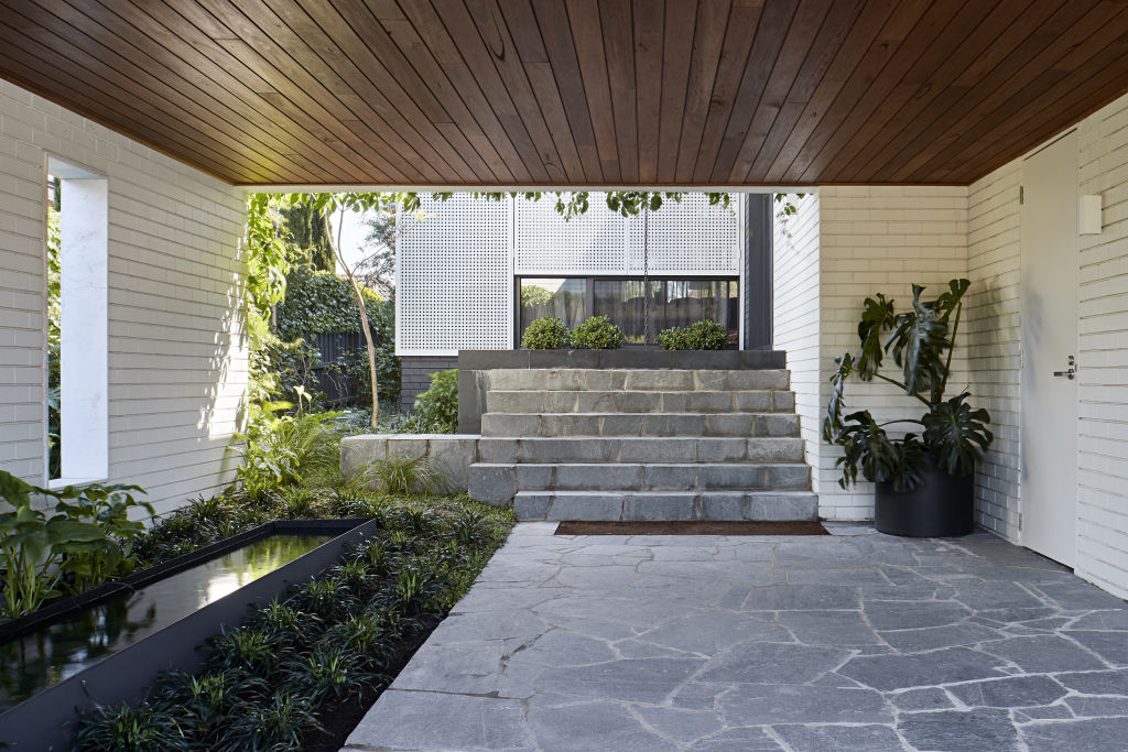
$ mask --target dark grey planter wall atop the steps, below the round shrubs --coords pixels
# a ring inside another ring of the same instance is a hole
[[[779,350],[460,350],[458,433],[481,433],[487,371],[495,369],[717,369],[787,368]],[[404,359],[404,372],[407,359]]]

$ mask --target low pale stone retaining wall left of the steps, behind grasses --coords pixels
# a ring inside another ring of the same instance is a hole
[[[341,440],[341,474],[351,478],[367,465],[389,457],[425,457],[447,479],[448,490],[466,490],[470,465],[478,457],[476,434],[380,433]]]

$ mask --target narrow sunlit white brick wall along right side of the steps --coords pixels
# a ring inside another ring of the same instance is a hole
[[[773,228],[773,342],[787,352],[795,413],[807,462],[819,467],[822,404],[819,396],[819,196],[788,196],[799,213],[775,216]]]

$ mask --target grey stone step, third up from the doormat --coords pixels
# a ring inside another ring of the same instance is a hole
[[[481,462],[802,462],[799,437],[483,437]]]

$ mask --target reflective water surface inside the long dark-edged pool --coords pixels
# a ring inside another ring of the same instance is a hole
[[[328,541],[271,536],[0,645],[0,711]]]

